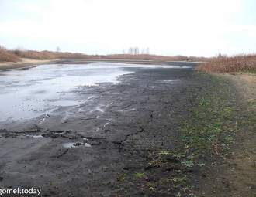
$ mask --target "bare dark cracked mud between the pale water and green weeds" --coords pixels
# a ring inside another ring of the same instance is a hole
[[[136,73],[121,76],[120,83],[102,83],[99,87],[81,90],[81,95],[96,95],[92,103],[104,106],[104,112],[89,113],[84,106],[85,111],[81,107],[78,113],[63,107],[42,124],[33,120],[3,128],[0,138],[2,150],[5,150],[1,154],[2,186],[42,188],[46,196],[59,193],[64,196],[68,192],[74,196],[110,195],[112,189],[104,182],[115,182],[123,168],[133,165],[133,161],[144,160],[140,158],[142,153],[134,158],[123,155],[120,146],[127,138],[141,132],[150,134],[175,129],[173,122],[178,117],[161,117],[161,114],[163,111],[165,115],[170,113],[170,109],[182,110],[179,100],[185,98],[184,87],[192,83],[188,81],[192,69],[133,71]],[[159,102],[164,104],[159,105]],[[69,119],[59,120],[57,114],[66,111],[71,114]],[[44,138],[31,138],[28,134]],[[157,141],[154,135],[150,143],[141,142],[144,147],[141,151],[150,150],[151,143],[162,145],[161,138]],[[82,141],[82,138],[87,138],[92,148],[62,146],[66,142]],[[175,140],[177,136],[171,138]],[[133,152],[133,148],[127,149]]]

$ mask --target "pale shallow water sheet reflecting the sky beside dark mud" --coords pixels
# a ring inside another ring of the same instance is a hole
[[[99,83],[119,83],[118,76],[133,73],[123,68],[185,68],[181,66],[148,66],[120,63],[41,65],[27,70],[0,73],[0,122],[47,118],[57,107],[74,106],[90,101],[79,100],[74,91]],[[95,110],[104,111],[102,107]]]

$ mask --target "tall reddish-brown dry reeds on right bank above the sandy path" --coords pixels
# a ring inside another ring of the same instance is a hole
[[[206,63],[195,68],[206,72],[240,72],[240,71],[256,71],[256,54],[246,54],[230,57],[219,57],[210,59]]]

